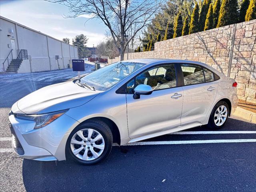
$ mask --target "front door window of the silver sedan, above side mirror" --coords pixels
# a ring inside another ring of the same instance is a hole
[[[174,64],[165,64],[150,68],[137,76],[135,81],[136,86],[139,84],[150,85],[153,90],[176,87],[176,71]],[[127,88],[131,82],[127,84]]]

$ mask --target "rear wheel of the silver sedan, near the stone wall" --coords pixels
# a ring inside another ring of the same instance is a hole
[[[213,129],[222,128],[228,120],[229,108],[224,101],[218,102],[214,106],[209,118],[208,127]]]

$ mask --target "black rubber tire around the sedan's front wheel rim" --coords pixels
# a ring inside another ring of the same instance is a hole
[[[81,129],[84,128],[92,128],[98,132],[100,132],[100,134],[103,136],[104,138],[104,142],[105,142],[105,148],[102,152],[102,154],[94,159],[94,160],[90,160],[90,161],[86,161],[86,160],[82,160],[79,159],[78,157],[76,157],[70,147],[70,141],[72,136]],[[103,161],[108,154],[110,154],[111,148],[112,148],[112,143],[113,143],[113,136],[112,136],[112,132],[110,130],[110,128],[108,127],[108,125],[106,123],[104,123],[103,121],[100,120],[88,120],[82,124],[80,124],[79,126],[77,126],[69,135],[67,143],[66,143],[66,156],[67,158],[71,158],[72,160],[74,160],[75,162],[78,162],[80,164],[83,165],[92,165],[92,164],[97,164],[101,161]]]

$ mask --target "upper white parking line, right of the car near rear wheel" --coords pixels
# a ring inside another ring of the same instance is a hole
[[[172,135],[187,135],[187,134],[256,134],[256,131],[180,131],[169,133]]]

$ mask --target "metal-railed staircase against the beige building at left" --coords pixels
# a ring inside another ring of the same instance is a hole
[[[3,62],[3,65],[6,61],[8,62],[8,67],[6,70],[4,70],[5,72],[17,73],[22,61],[24,59],[28,59],[28,50],[25,50],[25,49],[17,50],[17,55],[18,55],[17,58],[14,59],[12,56],[12,50],[9,52],[7,58]]]

